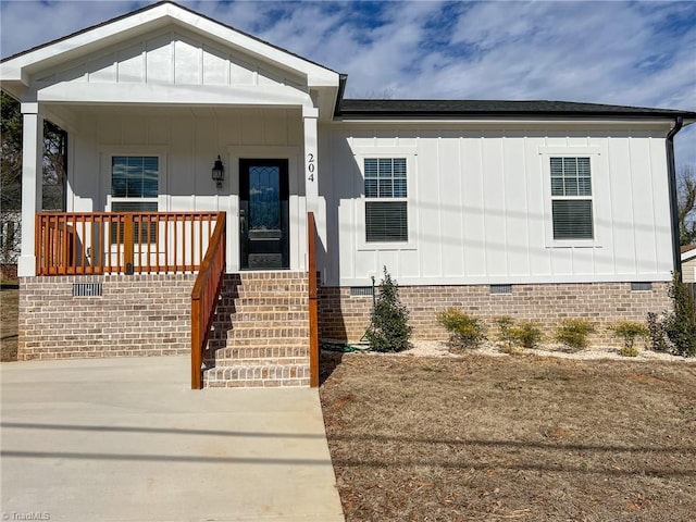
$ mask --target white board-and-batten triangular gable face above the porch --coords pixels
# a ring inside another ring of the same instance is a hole
[[[34,85],[39,101],[283,105],[308,99],[299,76],[183,27],[94,51],[44,72]]]

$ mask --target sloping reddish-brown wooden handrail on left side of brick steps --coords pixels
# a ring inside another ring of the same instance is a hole
[[[203,387],[203,351],[225,273],[225,213],[217,213],[216,221],[191,291],[191,389]]]

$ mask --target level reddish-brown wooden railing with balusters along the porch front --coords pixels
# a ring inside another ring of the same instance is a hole
[[[40,212],[36,274],[196,272],[215,212]]]

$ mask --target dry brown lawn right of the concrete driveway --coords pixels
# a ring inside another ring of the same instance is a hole
[[[347,521],[691,521],[696,364],[348,355],[321,388]]]

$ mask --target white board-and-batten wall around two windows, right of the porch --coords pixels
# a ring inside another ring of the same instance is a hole
[[[340,245],[324,261],[327,284],[364,286],[383,266],[402,285],[670,278],[663,129],[366,125],[335,125],[323,141],[327,235]],[[594,239],[563,243],[552,238],[548,162],[575,153],[592,161]],[[364,240],[370,156],[408,159],[406,244]]]

